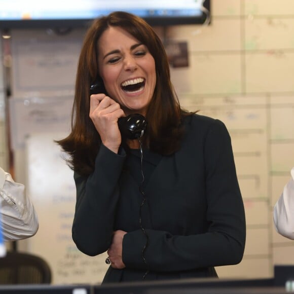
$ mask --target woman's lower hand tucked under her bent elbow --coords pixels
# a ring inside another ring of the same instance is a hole
[[[123,263],[123,238],[126,233],[122,230],[114,231],[113,242],[107,250],[111,266],[114,269],[123,269],[126,267]]]

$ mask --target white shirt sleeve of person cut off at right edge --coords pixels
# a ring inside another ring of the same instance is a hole
[[[274,225],[279,234],[294,240],[294,167],[291,178],[274,207]]]

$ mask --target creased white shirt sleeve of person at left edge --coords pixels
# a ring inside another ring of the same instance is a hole
[[[4,241],[25,239],[38,231],[38,216],[24,185],[15,182],[1,167],[0,209]]]

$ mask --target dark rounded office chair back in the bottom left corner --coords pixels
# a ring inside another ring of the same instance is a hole
[[[40,256],[13,251],[0,258],[0,285],[50,284],[51,278],[51,269]]]

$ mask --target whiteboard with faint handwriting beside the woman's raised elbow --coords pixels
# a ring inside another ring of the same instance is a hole
[[[32,133],[26,139],[27,192],[39,217],[39,231],[29,238],[28,251],[50,265],[53,284],[100,283],[108,268],[106,253],[87,256],[71,239],[76,187],[73,171],[54,140],[62,133]]]

